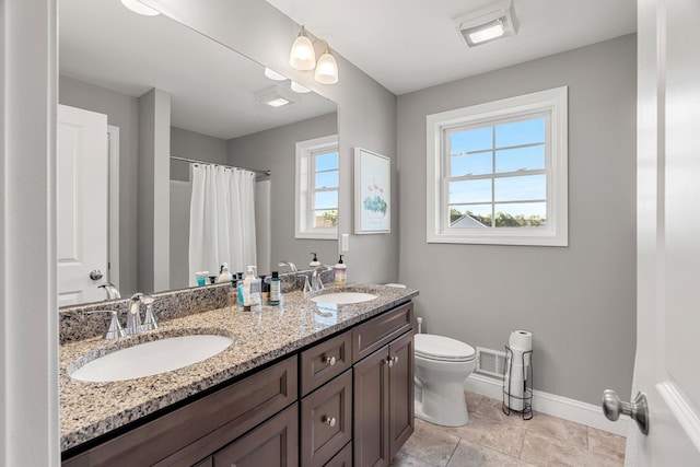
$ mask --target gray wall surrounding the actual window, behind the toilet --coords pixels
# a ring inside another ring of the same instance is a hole
[[[535,388],[630,394],[635,348],[635,36],[398,97],[399,281],[427,330],[503,350],[534,334]],[[425,243],[425,116],[569,86],[569,246]]]

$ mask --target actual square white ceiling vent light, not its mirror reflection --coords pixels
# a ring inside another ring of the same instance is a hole
[[[512,0],[500,0],[490,7],[455,19],[455,26],[469,47],[517,34]]]

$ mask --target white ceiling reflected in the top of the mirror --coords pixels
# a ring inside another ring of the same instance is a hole
[[[172,125],[222,139],[334,113],[317,94],[272,108],[254,92],[275,85],[262,67],[165,17],[141,16],[119,0],[59,0],[59,73],[135,97],[171,94]],[[280,85],[289,90],[290,81]]]

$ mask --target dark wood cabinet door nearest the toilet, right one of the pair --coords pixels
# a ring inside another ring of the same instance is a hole
[[[389,454],[413,433],[413,332],[389,345]]]

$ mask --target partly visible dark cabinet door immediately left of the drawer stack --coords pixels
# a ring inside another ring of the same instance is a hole
[[[266,421],[214,454],[214,467],[296,467],[298,405]]]

